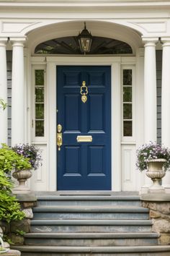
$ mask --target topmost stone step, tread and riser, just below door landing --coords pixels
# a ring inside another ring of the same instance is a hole
[[[131,205],[141,206],[138,195],[37,195],[42,205]]]

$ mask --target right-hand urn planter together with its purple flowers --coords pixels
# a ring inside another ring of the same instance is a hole
[[[136,166],[140,171],[146,171],[146,175],[152,179],[153,185],[150,191],[164,191],[161,186],[161,179],[165,176],[166,170],[170,168],[170,150],[160,143],[149,142],[137,150]]]

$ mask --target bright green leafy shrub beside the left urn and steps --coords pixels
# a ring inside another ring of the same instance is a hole
[[[7,145],[0,148],[0,220],[9,223],[12,220],[22,220],[24,213],[20,210],[17,198],[12,195],[12,181],[9,173],[12,170],[30,169],[31,165],[27,158],[18,155]]]

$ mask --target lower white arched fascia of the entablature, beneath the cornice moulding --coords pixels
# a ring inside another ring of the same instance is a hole
[[[71,15],[72,16],[72,15]],[[75,19],[75,17],[77,16],[77,18]],[[58,24],[61,22],[73,22],[73,21],[82,21],[84,22],[84,20],[89,20],[89,21],[107,21],[109,23],[115,23],[117,25],[123,25],[125,27],[129,27],[132,28],[133,30],[136,30],[138,33],[141,33],[143,36],[147,37],[147,36],[166,36],[169,35],[169,31],[170,31],[170,21],[169,20],[145,20],[145,22],[143,22],[143,19],[141,20],[135,20],[135,19],[122,19],[120,20],[120,18],[113,18],[113,17],[106,17],[107,15],[104,15],[103,18],[100,17],[95,17],[94,18],[94,14],[88,15],[89,17],[87,17],[87,15],[84,15],[84,17],[81,15],[81,18],[79,17],[78,14],[73,14],[73,17],[70,17],[69,20],[66,20],[66,17],[64,17],[64,19],[61,20],[58,18],[53,18],[53,19],[49,19],[49,20],[42,20],[42,18],[40,20],[34,20],[32,21],[32,19],[29,20],[29,18],[27,18],[27,20],[17,20],[16,18],[14,19],[10,19],[10,20],[1,20],[1,25],[0,25],[0,37],[14,37],[14,36],[24,36],[27,35],[27,33],[30,33],[32,30],[35,30],[37,28],[40,27],[46,27],[48,25],[54,25],[54,24]],[[96,15],[97,16],[97,15]]]

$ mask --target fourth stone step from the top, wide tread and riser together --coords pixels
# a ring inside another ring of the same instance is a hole
[[[138,246],[157,245],[156,233],[30,233],[24,244],[48,246]]]

